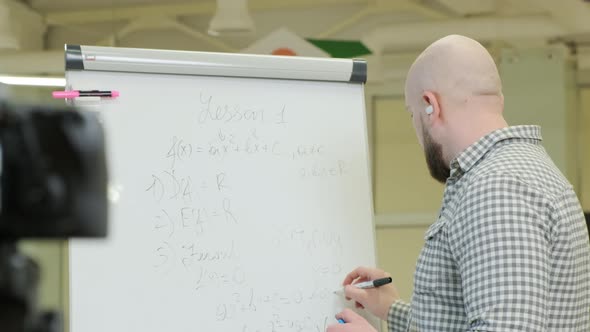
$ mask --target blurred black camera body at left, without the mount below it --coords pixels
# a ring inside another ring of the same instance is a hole
[[[106,235],[106,158],[95,114],[0,103],[0,149],[0,239]]]

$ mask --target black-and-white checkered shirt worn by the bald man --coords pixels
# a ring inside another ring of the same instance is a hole
[[[503,128],[451,163],[412,303],[390,331],[590,331],[590,245],[540,128]]]

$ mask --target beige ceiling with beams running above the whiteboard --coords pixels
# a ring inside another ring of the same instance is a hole
[[[210,36],[215,0],[0,0],[21,48],[6,56],[62,51],[64,44],[236,52],[286,27],[301,37],[362,40],[374,53],[415,54],[460,33],[487,46],[590,42],[583,0],[248,0],[254,33]]]

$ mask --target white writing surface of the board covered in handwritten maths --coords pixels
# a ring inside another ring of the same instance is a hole
[[[113,203],[108,239],[70,244],[71,331],[335,323],[345,301],[332,292],[351,269],[375,265],[361,84],[67,79],[75,90],[120,92],[94,104]]]

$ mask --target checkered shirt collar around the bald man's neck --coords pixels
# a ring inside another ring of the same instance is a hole
[[[457,171],[467,173],[486,155],[497,143],[508,139],[532,139],[541,141],[541,127],[539,126],[512,126],[495,130],[480,138],[463,150],[457,158],[451,161],[451,176]]]

